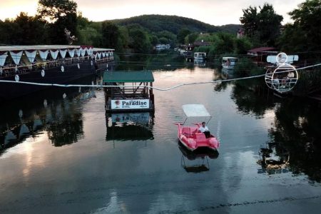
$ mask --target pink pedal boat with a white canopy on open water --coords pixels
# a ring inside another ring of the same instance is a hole
[[[218,151],[220,143],[218,139],[212,134],[205,137],[204,133],[201,133],[198,128],[200,128],[201,123],[193,123],[195,126],[184,126],[188,118],[200,118],[200,117],[210,117],[210,113],[201,104],[187,104],[183,105],[183,111],[185,113],[186,119],[183,124],[175,123],[178,126],[178,140],[183,144],[188,150],[194,151],[200,147],[211,148],[214,151]],[[208,120],[210,121],[210,119]]]

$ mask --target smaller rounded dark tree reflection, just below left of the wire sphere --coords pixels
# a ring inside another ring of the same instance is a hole
[[[238,106],[238,111],[246,114],[253,113],[255,116],[262,117],[267,109],[272,108],[274,103],[264,96],[258,95],[265,90],[264,86],[263,81],[255,79],[235,82],[231,98]]]

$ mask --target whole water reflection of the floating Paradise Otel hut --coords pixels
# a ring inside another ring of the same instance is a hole
[[[153,139],[154,113],[106,113],[106,141]]]

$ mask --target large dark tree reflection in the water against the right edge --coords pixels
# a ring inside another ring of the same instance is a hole
[[[293,173],[305,173],[321,182],[320,107],[315,103],[294,100],[281,103],[275,111],[272,141],[282,143],[291,156]]]

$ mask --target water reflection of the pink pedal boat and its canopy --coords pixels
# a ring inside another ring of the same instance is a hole
[[[178,141],[178,148],[182,153],[180,165],[188,173],[201,173],[210,170],[208,158],[218,158],[218,152],[208,148],[198,148],[195,151],[189,151]]]

